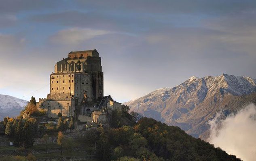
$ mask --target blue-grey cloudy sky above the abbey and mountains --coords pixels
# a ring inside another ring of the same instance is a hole
[[[102,57],[119,102],[191,76],[256,78],[255,0],[0,0],[0,94],[47,97],[71,51]]]

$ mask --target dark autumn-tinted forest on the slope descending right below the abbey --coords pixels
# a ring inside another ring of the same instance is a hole
[[[104,161],[241,161],[178,127],[151,118],[142,118],[133,127],[91,129],[84,144],[96,146],[96,156]]]

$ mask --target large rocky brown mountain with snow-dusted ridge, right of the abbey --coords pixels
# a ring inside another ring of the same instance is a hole
[[[209,136],[207,122],[216,112],[226,117],[250,102],[256,103],[256,80],[222,74],[192,76],[176,87],[157,89],[123,104],[129,105],[131,111],[206,139]]]

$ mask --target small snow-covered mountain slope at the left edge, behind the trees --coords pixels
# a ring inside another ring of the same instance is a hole
[[[9,95],[0,95],[0,120],[3,120],[6,116],[18,116],[27,104],[28,101],[26,100]]]

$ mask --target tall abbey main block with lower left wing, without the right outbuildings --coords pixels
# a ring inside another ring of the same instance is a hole
[[[73,116],[82,102],[97,102],[103,98],[103,72],[97,50],[70,52],[57,62],[50,75],[50,93],[39,99],[39,107],[47,116]]]

